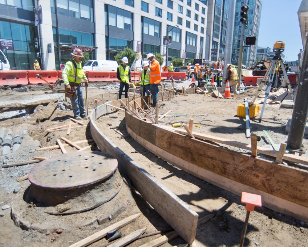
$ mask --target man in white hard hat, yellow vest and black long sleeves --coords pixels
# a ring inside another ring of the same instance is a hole
[[[131,71],[129,69],[128,58],[122,58],[122,64],[118,66],[116,77],[120,80],[119,99],[122,98],[123,88],[125,87],[125,98],[128,96],[129,83],[131,82]]]

